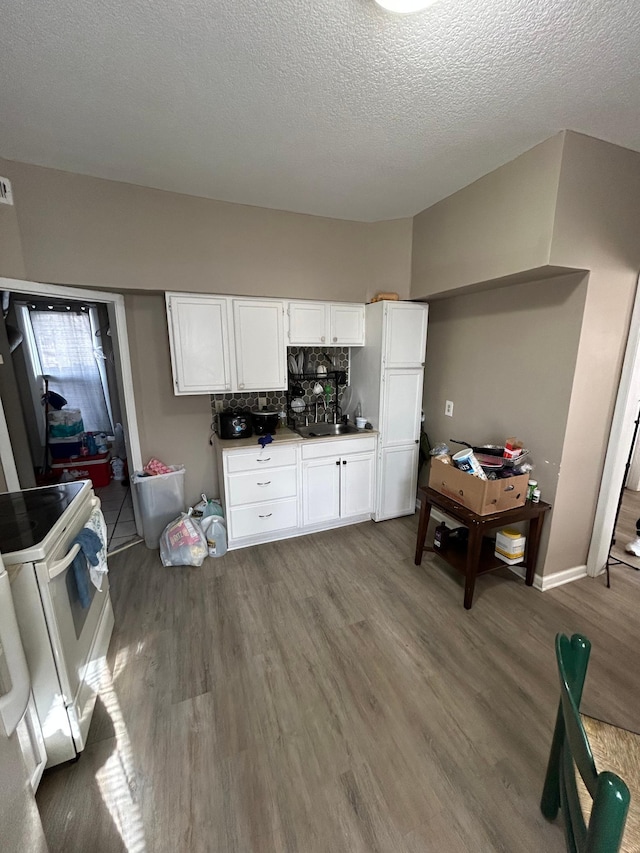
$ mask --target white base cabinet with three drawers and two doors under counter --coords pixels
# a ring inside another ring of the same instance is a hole
[[[366,521],[374,512],[376,436],[225,450],[229,548]]]

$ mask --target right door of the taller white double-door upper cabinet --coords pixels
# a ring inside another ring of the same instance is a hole
[[[287,387],[284,303],[234,299],[236,381],[238,391],[281,391]]]

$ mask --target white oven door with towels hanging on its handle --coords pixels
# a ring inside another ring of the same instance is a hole
[[[101,591],[89,582],[91,601],[83,607],[71,565],[79,550],[78,545],[72,545],[73,539],[84,527],[91,510],[99,506],[98,498],[88,500],[86,512],[78,513],[47,560],[35,566],[60,687],[78,752],[86,744],[113,629],[109,576],[103,576]]]

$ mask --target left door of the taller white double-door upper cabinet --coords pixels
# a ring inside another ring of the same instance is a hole
[[[167,293],[166,302],[175,394],[230,391],[227,300]]]

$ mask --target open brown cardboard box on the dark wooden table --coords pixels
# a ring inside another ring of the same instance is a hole
[[[480,480],[454,465],[441,462],[437,456],[431,460],[429,488],[478,515],[491,515],[492,512],[524,506],[528,482],[528,474],[504,480]]]

